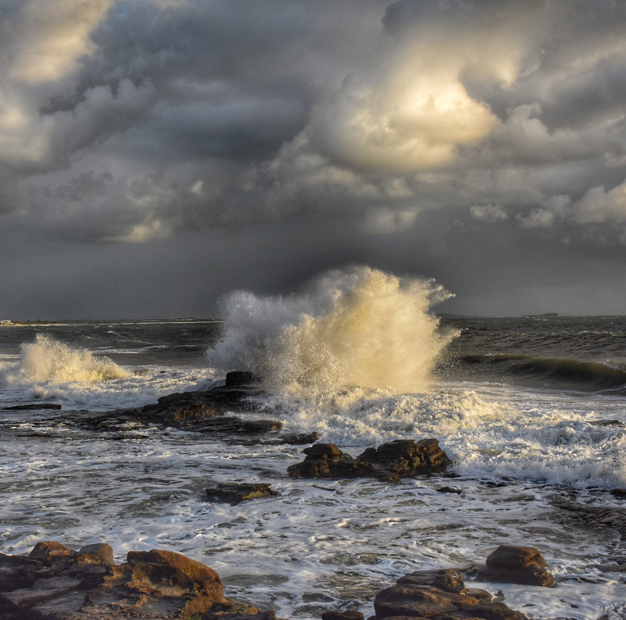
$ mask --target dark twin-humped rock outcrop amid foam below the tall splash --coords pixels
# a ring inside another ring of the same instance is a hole
[[[394,481],[441,470],[450,463],[437,439],[396,439],[377,449],[367,448],[356,459],[335,444],[314,444],[303,451],[304,461],[287,468],[293,478],[377,477]]]

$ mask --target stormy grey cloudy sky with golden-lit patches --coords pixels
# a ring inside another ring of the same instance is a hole
[[[0,76],[0,318],[626,313],[620,0],[0,0]]]

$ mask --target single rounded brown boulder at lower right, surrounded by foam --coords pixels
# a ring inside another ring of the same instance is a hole
[[[535,547],[501,545],[486,559],[485,564],[479,574],[486,581],[543,587],[554,584],[548,563]]]

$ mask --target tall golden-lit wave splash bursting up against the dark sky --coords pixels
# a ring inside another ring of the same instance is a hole
[[[456,335],[441,333],[429,314],[448,297],[433,280],[369,267],[328,272],[287,297],[237,292],[225,299],[223,336],[207,357],[270,385],[415,392]]]

